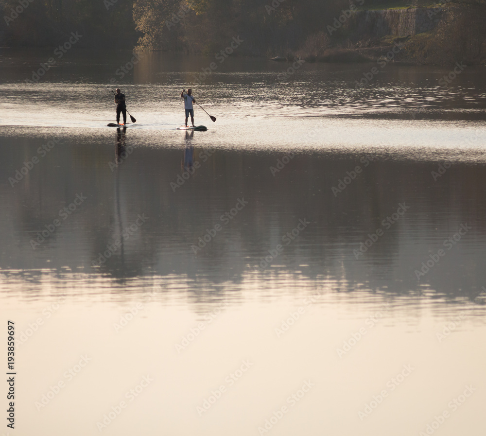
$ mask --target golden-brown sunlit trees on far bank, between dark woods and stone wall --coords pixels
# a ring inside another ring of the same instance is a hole
[[[239,53],[271,55],[296,50],[348,7],[349,0],[136,0],[134,18],[140,48],[208,54],[240,36]]]

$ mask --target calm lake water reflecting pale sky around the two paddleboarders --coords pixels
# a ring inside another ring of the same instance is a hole
[[[483,69],[68,52],[26,83],[51,55],[0,56],[11,434],[484,434]]]

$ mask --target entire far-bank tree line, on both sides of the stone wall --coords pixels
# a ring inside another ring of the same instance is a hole
[[[0,45],[55,47],[77,31],[84,47],[214,54],[237,38],[244,41],[238,55],[315,60],[329,50],[381,44],[360,34],[347,17],[383,1],[0,0]],[[385,3],[417,7],[427,1]],[[486,1],[438,0],[434,10],[440,18],[436,30],[412,38],[402,53],[423,63],[485,63]]]

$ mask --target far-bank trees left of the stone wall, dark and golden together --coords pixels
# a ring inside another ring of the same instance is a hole
[[[211,53],[233,37],[241,54],[295,49],[325,30],[348,0],[0,0],[2,46],[57,46],[72,31],[82,44]]]

